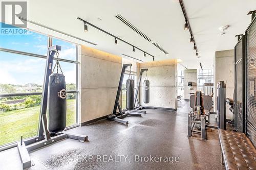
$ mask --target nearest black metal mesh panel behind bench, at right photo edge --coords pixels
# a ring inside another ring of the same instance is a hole
[[[246,30],[246,134],[253,142],[256,137],[256,22],[255,18]]]

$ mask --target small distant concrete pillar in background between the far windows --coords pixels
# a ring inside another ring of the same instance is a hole
[[[192,82],[192,87],[188,86],[188,82]],[[192,88],[190,90],[190,88]],[[189,100],[189,93],[197,91],[197,69],[184,70],[184,99]]]

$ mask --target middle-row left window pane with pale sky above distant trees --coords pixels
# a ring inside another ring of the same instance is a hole
[[[41,92],[46,59],[0,52],[0,93]]]

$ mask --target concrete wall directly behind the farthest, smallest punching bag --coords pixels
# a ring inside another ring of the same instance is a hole
[[[177,109],[177,61],[163,60],[139,63],[139,70],[148,68],[147,77],[150,80],[150,103],[143,102],[143,74],[140,84],[140,104]]]

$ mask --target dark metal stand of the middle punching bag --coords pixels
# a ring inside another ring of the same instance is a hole
[[[121,90],[122,90],[122,82],[123,82],[125,69],[129,66],[131,67],[132,64],[123,64],[121,76],[120,76],[120,80],[119,80],[119,85],[118,85],[118,89],[117,89],[117,93],[116,93],[114,109],[113,109],[113,112],[106,117],[109,120],[113,120],[115,122],[118,122],[118,123],[121,123],[124,125],[129,124],[129,122],[127,120],[123,120],[124,117],[126,117],[126,116],[141,116],[141,113],[131,113],[131,112],[127,112],[126,110],[122,110],[122,108],[119,104],[119,98],[120,98],[120,94],[121,94]],[[116,111],[117,108],[118,108],[119,112]]]

